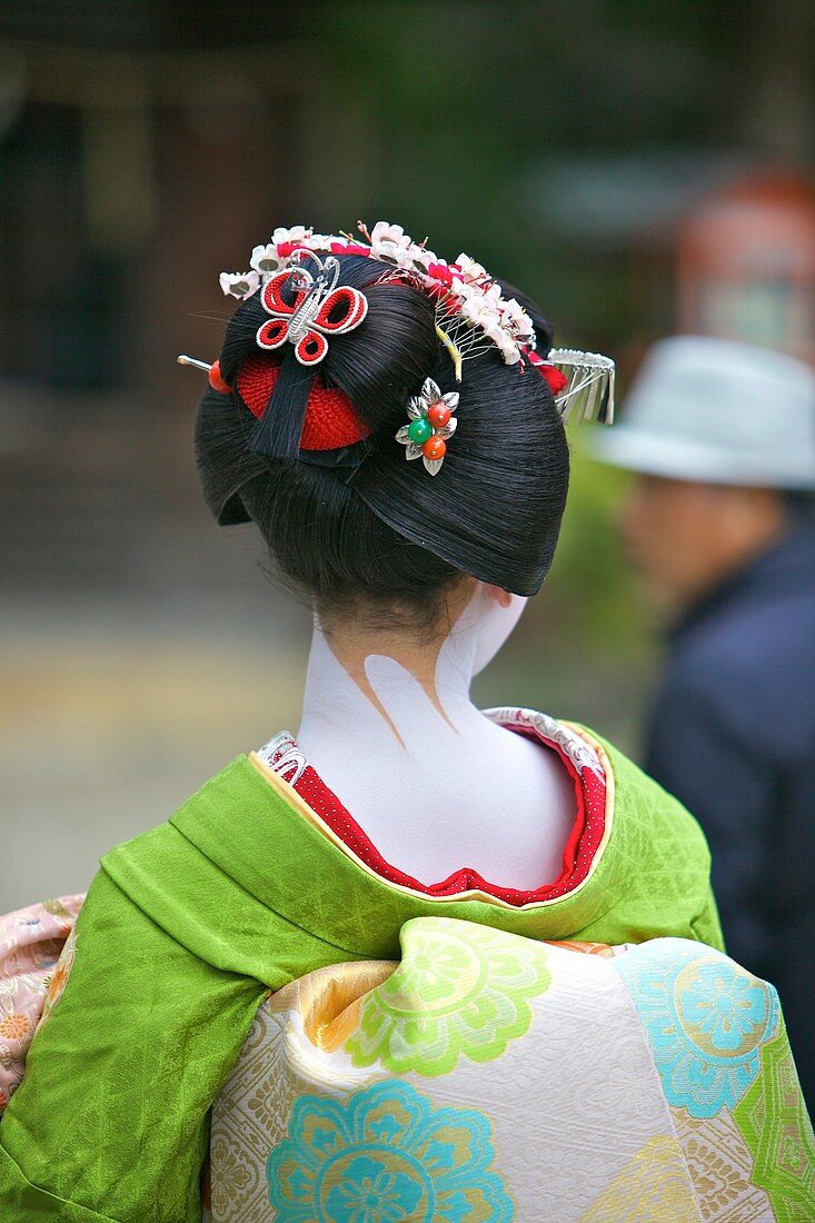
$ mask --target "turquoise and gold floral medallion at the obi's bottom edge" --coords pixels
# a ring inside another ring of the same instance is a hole
[[[482,1113],[436,1108],[408,1082],[301,1096],[268,1158],[269,1201],[286,1223],[508,1223],[493,1155]]]

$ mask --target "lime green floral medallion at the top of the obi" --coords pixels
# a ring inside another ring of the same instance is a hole
[[[345,1044],[356,1066],[432,1077],[460,1057],[492,1062],[527,1031],[529,1000],[552,980],[538,943],[487,926],[417,917],[401,943],[401,964],[365,998]]]

